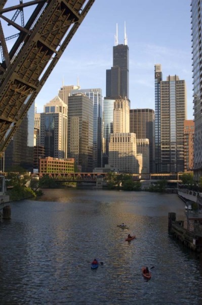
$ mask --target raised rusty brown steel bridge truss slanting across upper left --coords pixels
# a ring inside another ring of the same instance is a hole
[[[95,2],[15,1],[0,1],[0,157]],[[17,33],[6,37],[3,24]]]

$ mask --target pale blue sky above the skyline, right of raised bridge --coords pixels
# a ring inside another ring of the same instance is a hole
[[[112,67],[116,23],[118,43],[129,46],[131,109],[155,109],[154,65],[161,64],[163,80],[178,75],[186,81],[187,119],[193,119],[190,0],[95,0],[77,29],[35,103],[37,112],[64,85],[101,88],[106,94],[106,70]]]

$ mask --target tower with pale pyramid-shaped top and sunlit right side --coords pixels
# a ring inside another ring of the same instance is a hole
[[[58,96],[41,113],[40,140],[46,157],[67,158],[67,105]]]

